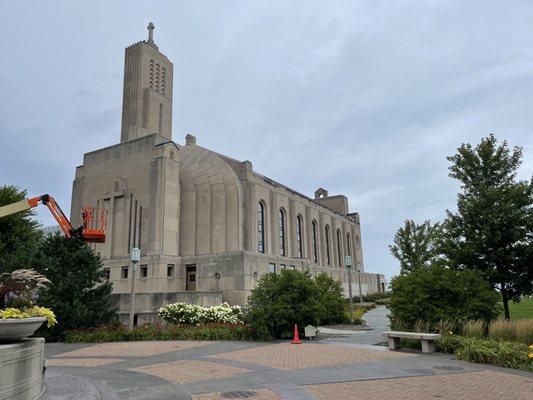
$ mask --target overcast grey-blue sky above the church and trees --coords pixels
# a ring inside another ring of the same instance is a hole
[[[531,177],[533,1],[81,3],[0,0],[0,185],[66,213],[83,154],[119,142],[124,47],[149,21],[174,63],[174,140],[348,196],[367,271],[397,274],[403,221],[454,208],[461,143],[493,132]]]

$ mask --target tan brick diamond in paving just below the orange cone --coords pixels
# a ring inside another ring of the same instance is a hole
[[[312,368],[325,365],[342,365],[381,360],[384,358],[412,357],[411,354],[386,350],[340,347],[327,344],[279,343],[221,353],[214,358],[238,360],[282,370]]]

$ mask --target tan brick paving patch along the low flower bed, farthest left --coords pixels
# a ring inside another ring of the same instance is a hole
[[[207,341],[153,341],[153,342],[114,342],[102,343],[83,349],[60,354],[61,357],[110,356],[110,357],[148,357],[170,351],[205,346]]]

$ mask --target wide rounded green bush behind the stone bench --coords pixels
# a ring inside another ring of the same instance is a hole
[[[391,289],[393,327],[412,328],[418,320],[490,321],[500,312],[498,293],[477,271],[433,265],[393,278]]]

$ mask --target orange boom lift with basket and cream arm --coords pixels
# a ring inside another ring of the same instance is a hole
[[[37,207],[39,204],[44,204],[48,207],[66,237],[77,237],[87,243],[105,242],[105,210],[99,210],[98,225],[93,227],[94,208],[91,206],[83,206],[83,225],[78,228],[74,228],[63,211],[61,211],[61,208],[56,203],[54,198],[48,194],[43,194],[42,196],[33,197],[31,199],[18,201],[16,203],[0,207],[0,218],[29,210],[30,208]]]

